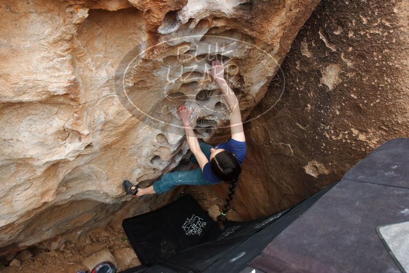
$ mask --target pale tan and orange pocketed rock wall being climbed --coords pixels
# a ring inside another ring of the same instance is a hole
[[[175,168],[188,150],[180,103],[197,109],[199,137],[225,139],[209,61],[229,63],[246,118],[317,2],[1,3],[0,254],[105,225],[129,200],[124,178],[146,186]]]

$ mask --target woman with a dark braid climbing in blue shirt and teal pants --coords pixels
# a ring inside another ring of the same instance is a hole
[[[166,173],[161,179],[154,181],[153,185],[147,188],[139,188],[138,185],[134,186],[128,180],[123,182],[123,187],[126,193],[134,197],[140,197],[145,194],[161,194],[181,185],[214,185],[220,183],[220,181],[224,181],[230,184],[230,188],[222,212],[217,217],[219,228],[224,229],[225,215],[230,208],[230,202],[232,201],[235,187],[239,181],[241,165],[246,152],[246,144],[239,102],[233,90],[224,79],[224,67],[221,61],[212,61],[209,74],[220,87],[223,97],[229,105],[231,112],[230,128],[232,133],[229,141],[223,142],[214,148],[209,144],[199,143],[193,128],[189,126],[191,112],[187,109],[185,104],[180,105],[178,114],[183,121],[186,139],[193,153],[191,161],[198,164],[200,168]]]

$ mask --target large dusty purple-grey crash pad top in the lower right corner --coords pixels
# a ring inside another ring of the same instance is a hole
[[[378,236],[409,220],[409,139],[384,143],[353,167],[249,265],[265,272],[401,272]]]

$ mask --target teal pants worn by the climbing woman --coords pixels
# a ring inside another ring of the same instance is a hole
[[[199,145],[201,151],[210,161],[210,149],[214,147],[204,142],[200,142]],[[190,157],[190,161],[194,164],[198,164],[196,157],[193,154]],[[154,181],[153,190],[157,194],[161,194],[181,185],[214,185],[218,183],[219,182],[214,183],[203,179],[202,172],[199,167],[197,169],[189,171],[175,171],[165,173],[164,175],[162,175],[161,179]]]

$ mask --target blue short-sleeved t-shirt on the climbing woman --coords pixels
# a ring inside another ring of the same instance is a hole
[[[237,141],[230,138],[227,142],[220,143],[215,147],[215,149],[224,149],[233,153],[239,162],[240,166],[243,164],[244,157],[246,155],[246,142],[245,141]],[[219,177],[214,174],[212,167],[210,166],[210,162],[206,163],[203,167],[203,179],[217,183],[221,181]]]

